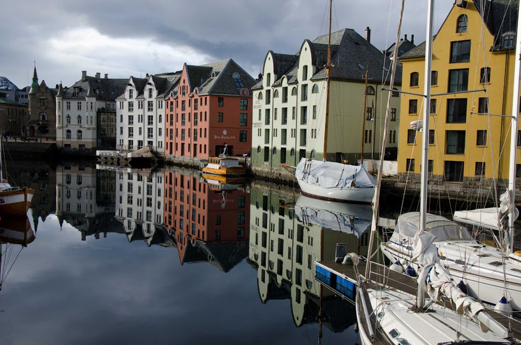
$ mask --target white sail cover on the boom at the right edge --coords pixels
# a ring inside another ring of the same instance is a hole
[[[499,200],[499,207],[477,208],[476,210],[455,211],[454,220],[462,223],[482,226],[492,230],[501,230],[502,221],[508,215],[508,206],[510,205],[510,194],[503,193]],[[514,220],[519,216],[519,211],[514,207]]]

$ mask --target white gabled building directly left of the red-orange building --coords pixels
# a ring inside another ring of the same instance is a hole
[[[116,99],[116,149],[137,151],[150,146],[165,153],[165,95],[177,89],[181,73],[130,77]]]

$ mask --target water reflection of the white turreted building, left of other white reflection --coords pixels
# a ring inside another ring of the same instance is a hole
[[[115,171],[96,169],[90,162],[65,162],[56,166],[56,217],[87,236],[107,237],[107,232],[123,233],[114,220]]]

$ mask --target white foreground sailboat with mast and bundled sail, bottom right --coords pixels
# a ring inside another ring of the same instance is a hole
[[[400,37],[403,7],[402,0],[400,23],[395,45],[391,87],[394,81],[394,67],[396,65],[396,46]],[[427,40],[425,50],[425,98],[430,104],[430,77],[431,77],[431,45],[432,45],[432,9],[433,0],[428,1],[427,16]],[[386,128],[388,126],[390,100],[386,113]],[[424,127],[428,129],[429,109],[424,106]],[[428,133],[428,131],[424,131]],[[382,156],[385,150],[387,131],[384,131]],[[364,345],[373,344],[375,341],[392,344],[431,344],[431,343],[464,343],[465,341],[476,343],[505,343],[503,339],[511,338],[512,332],[490,317],[483,309],[481,303],[466,295],[456,287],[448,272],[440,264],[436,247],[432,244],[435,236],[426,229],[426,202],[427,202],[427,159],[428,159],[428,135],[423,138],[423,163],[421,168],[420,212],[419,230],[414,237],[413,261],[421,268],[417,279],[418,293],[416,299],[413,295],[397,291],[386,285],[379,284],[370,279],[370,262],[367,263],[365,274],[359,276],[356,313],[359,335]],[[381,180],[383,161],[380,159],[378,181]],[[371,236],[369,240],[369,253],[376,233],[376,219],[378,214],[378,198],[380,184],[377,185],[375,203],[373,208],[373,223],[371,224]],[[430,301],[425,300],[425,292],[429,293]],[[456,312],[445,309],[436,304],[442,300],[442,296],[450,298],[456,305]],[[492,332],[483,332],[485,330]]]

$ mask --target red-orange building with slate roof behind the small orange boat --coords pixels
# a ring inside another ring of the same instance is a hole
[[[251,150],[256,81],[232,59],[184,64],[177,93],[165,98],[165,154],[207,158]]]

